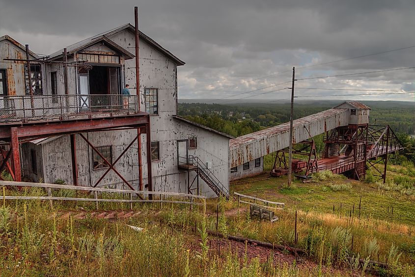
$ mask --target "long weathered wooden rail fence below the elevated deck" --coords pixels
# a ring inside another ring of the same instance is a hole
[[[80,186],[69,186],[69,185],[58,185],[58,184],[41,184],[41,183],[28,183],[28,182],[12,182],[12,181],[0,181],[0,186],[12,186],[12,187],[36,187],[44,188],[48,196],[9,196],[2,195],[1,198],[4,200],[49,200],[51,207],[53,200],[65,200],[65,201],[91,201],[96,203],[98,209],[99,202],[121,202],[130,203],[130,208],[133,208],[133,203],[175,203],[175,204],[189,204],[191,209],[193,205],[199,205],[195,203],[194,198],[206,199],[205,196],[194,195],[194,194],[181,194],[181,193],[168,193],[168,192],[148,192],[148,191],[134,191],[134,190],[117,190],[117,189],[104,189],[104,188],[93,188],[93,187],[80,187]],[[93,192],[94,198],[80,198],[80,197],[58,197],[52,196],[52,189],[65,189],[75,191],[87,191]],[[130,199],[103,199],[98,198],[98,193],[117,193],[117,194],[129,194]],[[150,199],[133,199],[133,194],[152,194],[160,195],[159,200]],[[177,197],[177,198],[188,198],[188,201],[184,200],[166,200],[165,197]],[[162,199],[163,198],[163,199]]]

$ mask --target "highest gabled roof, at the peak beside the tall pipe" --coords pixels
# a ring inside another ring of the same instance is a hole
[[[135,33],[134,26],[131,25],[130,23],[127,23],[127,24],[122,25],[120,27],[117,27],[117,28],[114,28],[112,30],[109,30],[109,31],[106,31],[106,32],[103,32],[103,33],[100,33],[100,34],[97,34],[97,35],[94,35],[94,36],[89,37],[87,39],[84,39],[84,40],[82,40],[80,42],[77,42],[75,44],[72,44],[72,45],[66,47],[66,49],[67,49],[68,53],[76,52],[77,50],[81,50],[81,49],[83,49],[83,48],[85,48],[85,47],[87,47],[87,46],[89,46],[91,44],[96,43],[96,40],[97,39],[102,39],[102,38],[108,39],[107,38],[108,36],[111,36],[111,35],[119,32],[119,31],[122,31],[122,30],[125,30],[125,29],[127,29],[127,30]],[[138,35],[139,35],[139,39],[140,40],[146,41],[147,43],[151,44],[154,48],[156,48],[161,53],[163,53],[164,55],[166,55],[167,57],[169,57],[170,59],[172,59],[177,65],[184,65],[185,64],[182,60],[180,60],[175,55],[171,54],[168,50],[166,50],[160,44],[158,44],[157,42],[155,42],[152,38],[150,38],[149,36],[147,36],[146,34],[144,34],[141,31],[138,31],[138,32],[139,32]],[[94,41],[94,43],[91,43],[92,41]],[[115,42],[112,42],[112,43],[116,44]],[[118,45],[118,47],[119,48],[122,48],[119,45]],[[52,59],[58,58],[58,57],[60,57],[62,55],[62,52],[63,52],[63,49],[61,49],[59,51],[56,51],[54,54],[51,54],[50,55],[50,58],[52,58]],[[133,57],[134,57],[134,55],[133,55]]]

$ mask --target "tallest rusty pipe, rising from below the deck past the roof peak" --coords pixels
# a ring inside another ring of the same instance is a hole
[[[137,94],[137,102],[138,102],[138,111],[140,111],[140,104],[141,104],[141,97],[140,97],[140,53],[139,53],[139,37],[138,37],[138,6],[134,7],[134,23],[135,23],[135,31],[136,31],[136,94]],[[142,181],[142,145],[141,145],[141,131],[138,128],[138,180],[139,180],[139,190],[142,191],[143,189],[143,181]],[[147,143],[149,143],[147,141]],[[147,154],[148,155],[148,154]]]

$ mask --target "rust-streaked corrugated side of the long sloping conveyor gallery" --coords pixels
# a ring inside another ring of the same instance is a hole
[[[301,142],[311,136],[323,134],[339,126],[349,124],[348,110],[330,109],[293,121],[293,142]],[[289,146],[290,123],[231,139],[229,167],[239,166]]]

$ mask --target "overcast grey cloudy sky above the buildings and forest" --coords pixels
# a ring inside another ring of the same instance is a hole
[[[140,30],[186,62],[178,70],[181,99],[289,98],[289,89],[274,90],[290,83],[273,85],[289,82],[293,66],[297,79],[415,67],[412,47],[301,69],[415,46],[414,0],[0,0],[0,36],[51,54],[125,23],[134,25],[135,5]],[[414,91],[414,80],[414,69],[299,80],[296,95],[414,101],[414,94],[301,89]]]

